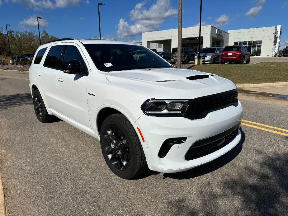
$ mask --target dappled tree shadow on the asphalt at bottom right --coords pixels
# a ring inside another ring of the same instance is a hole
[[[175,215],[287,215],[288,153],[258,151],[257,155],[260,160],[239,166],[222,181],[211,179],[200,185],[195,193],[200,204],[189,203],[185,196],[170,199],[168,211]]]

